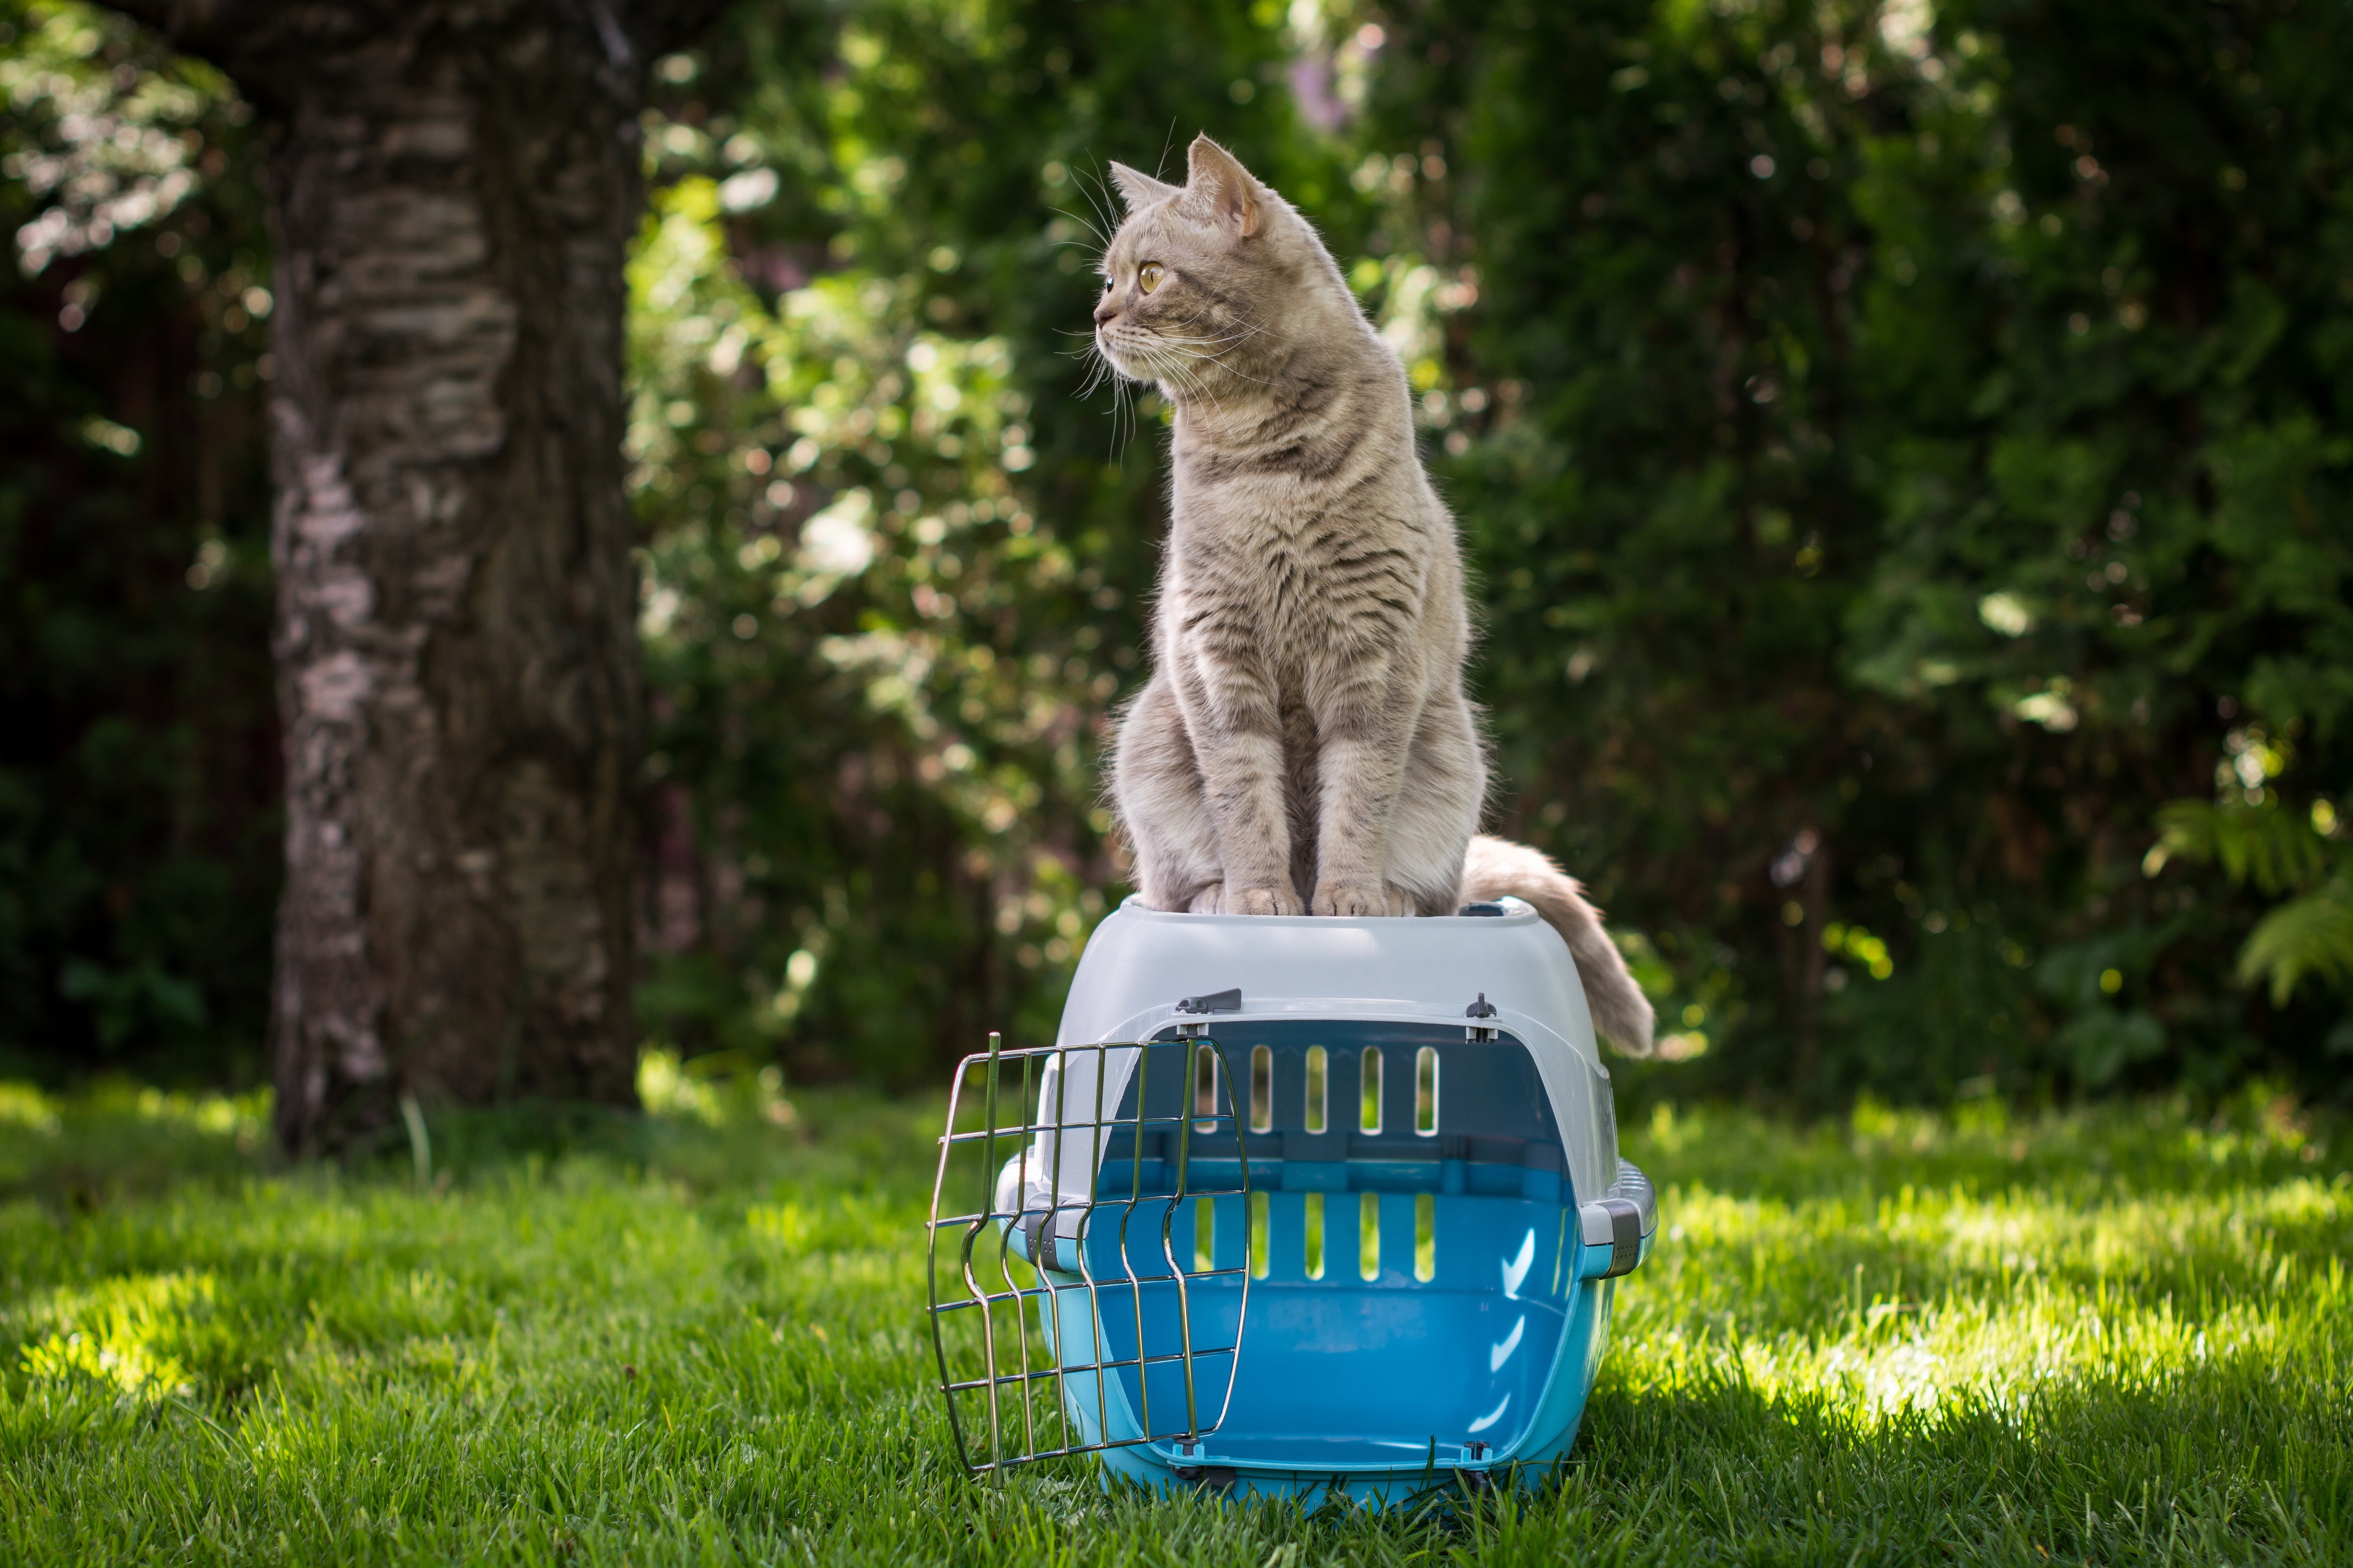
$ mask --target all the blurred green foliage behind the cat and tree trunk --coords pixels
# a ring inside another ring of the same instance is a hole
[[[5,16],[38,374],[0,1041],[240,1077],[273,875],[240,106],[101,12]],[[904,1086],[1052,1030],[1125,891],[1096,759],[1162,527],[1155,400],[1073,355],[1101,165],[1209,129],[1407,360],[1482,571],[1497,816],[1607,900],[1671,1027],[1645,1079],[2334,1091],[2348,26],[741,7],[656,66],[628,280],[649,1039]],[[202,501],[176,451],[233,477]]]

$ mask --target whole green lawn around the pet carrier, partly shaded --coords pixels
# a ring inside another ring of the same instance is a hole
[[[0,1559],[2346,1563],[2353,1143],[2249,1098],[1793,1128],[1659,1110],[1668,1232],[1511,1505],[953,1465],[936,1105],[671,1079],[278,1168],[264,1107],[0,1088]]]

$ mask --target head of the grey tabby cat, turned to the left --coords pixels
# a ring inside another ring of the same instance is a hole
[[[1104,252],[1094,341],[1129,381],[1219,397],[1355,301],[1322,240],[1233,153],[1198,136],[1186,183],[1111,165],[1127,221]]]

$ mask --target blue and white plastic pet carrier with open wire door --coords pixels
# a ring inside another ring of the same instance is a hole
[[[1054,1046],[967,1058],[932,1331],[974,1472],[1402,1495],[1577,1436],[1657,1229],[1560,936],[1162,914],[1087,943]]]

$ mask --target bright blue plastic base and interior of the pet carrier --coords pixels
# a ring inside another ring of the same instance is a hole
[[[1167,1135],[1122,1133],[1106,1150],[1096,1197],[1136,1194],[1141,1206],[1125,1206],[1122,1225],[1111,1222],[1122,1206],[1099,1211],[1087,1262],[1099,1281],[1127,1274],[1148,1284],[1129,1298],[1132,1309],[1106,1309],[1096,1324],[1075,1258],[1061,1253],[1066,1267],[1042,1272],[1056,1286],[1056,1354],[1071,1347],[1061,1359],[1073,1368],[1064,1392],[1073,1420],[1089,1443],[1129,1443],[1101,1453],[1104,1483],[1233,1497],[1339,1488],[1400,1502],[1454,1472],[1541,1481],[1577,1439],[1607,1345],[1614,1276],[1649,1253],[1649,1182],[1609,1150],[1617,1182],[1579,1204],[1534,1060],[1511,1034],[1468,1041],[1459,1027],[1332,1020],[1249,1020],[1221,1034],[1238,1072],[1266,1074],[1254,1088],[1268,1088],[1275,1105],[1275,1126],[1242,1140],[1249,1197],[1231,1192],[1238,1168],[1198,1154],[1188,1157],[1193,1185],[1231,1194],[1179,1197]],[[1365,1117],[1377,1131],[1348,1128],[1339,1114],[1327,1117],[1325,1126],[1341,1124],[1329,1131],[1282,1126],[1292,1121],[1282,1112],[1306,1093],[1311,1046],[1325,1063],[1329,1107],[1346,1107],[1348,1121],[1374,1091],[1360,1084],[1360,1065],[1369,1056],[1393,1063],[1379,1084],[1381,1112]],[[1442,1117],[1433,1119],[1475,1126],[1475,1135],[1417,1131],[1414,1060],[1426,1046],[1442,1070]],[[1160,1084],[1174,1095],[1176,1074],[1158,1074]],[[1014,1237],[1028,1255],[1024,1241]],[[1132,1359],[1139,1333],[1155,1352],[1184,1340],[1162,1258],[1217,1269],[1254,1262],[1247,1326],[1238,1272],[1191,1286],[1193,1342],[1235,1345],[1240,1335],[1231,1361],[1195,1356],[1202,1389],[1221,1392],[1231,1368],[1233,1394],[1224,1420],[1219,1401],[1202,1408],[1214,1429],[1193,1443],[1134,1441],[1146,1429],[1184,1429],[1172,1415],[1186,1408],[1179,1366],[1162,1361],[1146,1380],[1127,1366],[1101,1389],[1094,1373],[1078,1371],[1106,1354]]]

